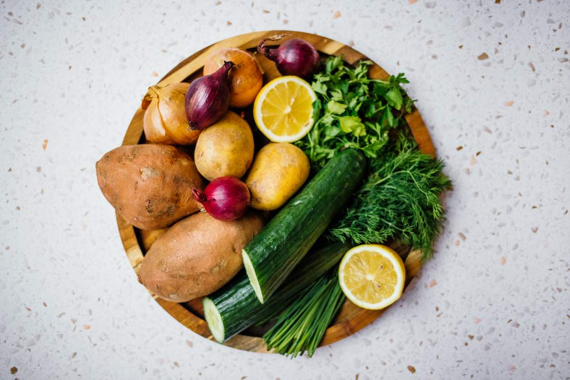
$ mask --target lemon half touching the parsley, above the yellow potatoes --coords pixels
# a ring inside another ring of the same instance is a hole
[[[271,141],[293,142],[313,126],[315,92],[298,76],[280,76],[263,86],[255,98],[257,128]]]

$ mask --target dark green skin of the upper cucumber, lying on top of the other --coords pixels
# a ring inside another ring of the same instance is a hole
[[[263,295],[270,299],[295,265],[307,254],[366,171],[356,149],[337,153],[244,248]]]

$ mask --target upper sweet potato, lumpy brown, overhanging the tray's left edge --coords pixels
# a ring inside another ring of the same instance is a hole
[[[170,226],[201,209],[192,187],[204,181],[192,158],[174,146],[124,145],[95,165],[97,182],[119,215],[142,230]]]

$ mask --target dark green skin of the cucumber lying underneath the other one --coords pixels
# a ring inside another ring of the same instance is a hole
[[[272,316],[275,309],[282,309],[299,292],[331,269],[351,247],[350,243],[333,243],[309,252],[287,277],[286,283],[264,304],[259,303],[245,270],[239,272],[224,287],[206,297],[214,303],[222,317],[224,340]]]

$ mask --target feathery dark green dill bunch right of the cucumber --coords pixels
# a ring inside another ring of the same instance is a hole
[[[452,188],[444,166],[421,153],[413,138],[398,134],[395,144],[370,160],[368,178],[328,238],[355,244],[395,239],[429,259],[445,220],[439,194]]]

